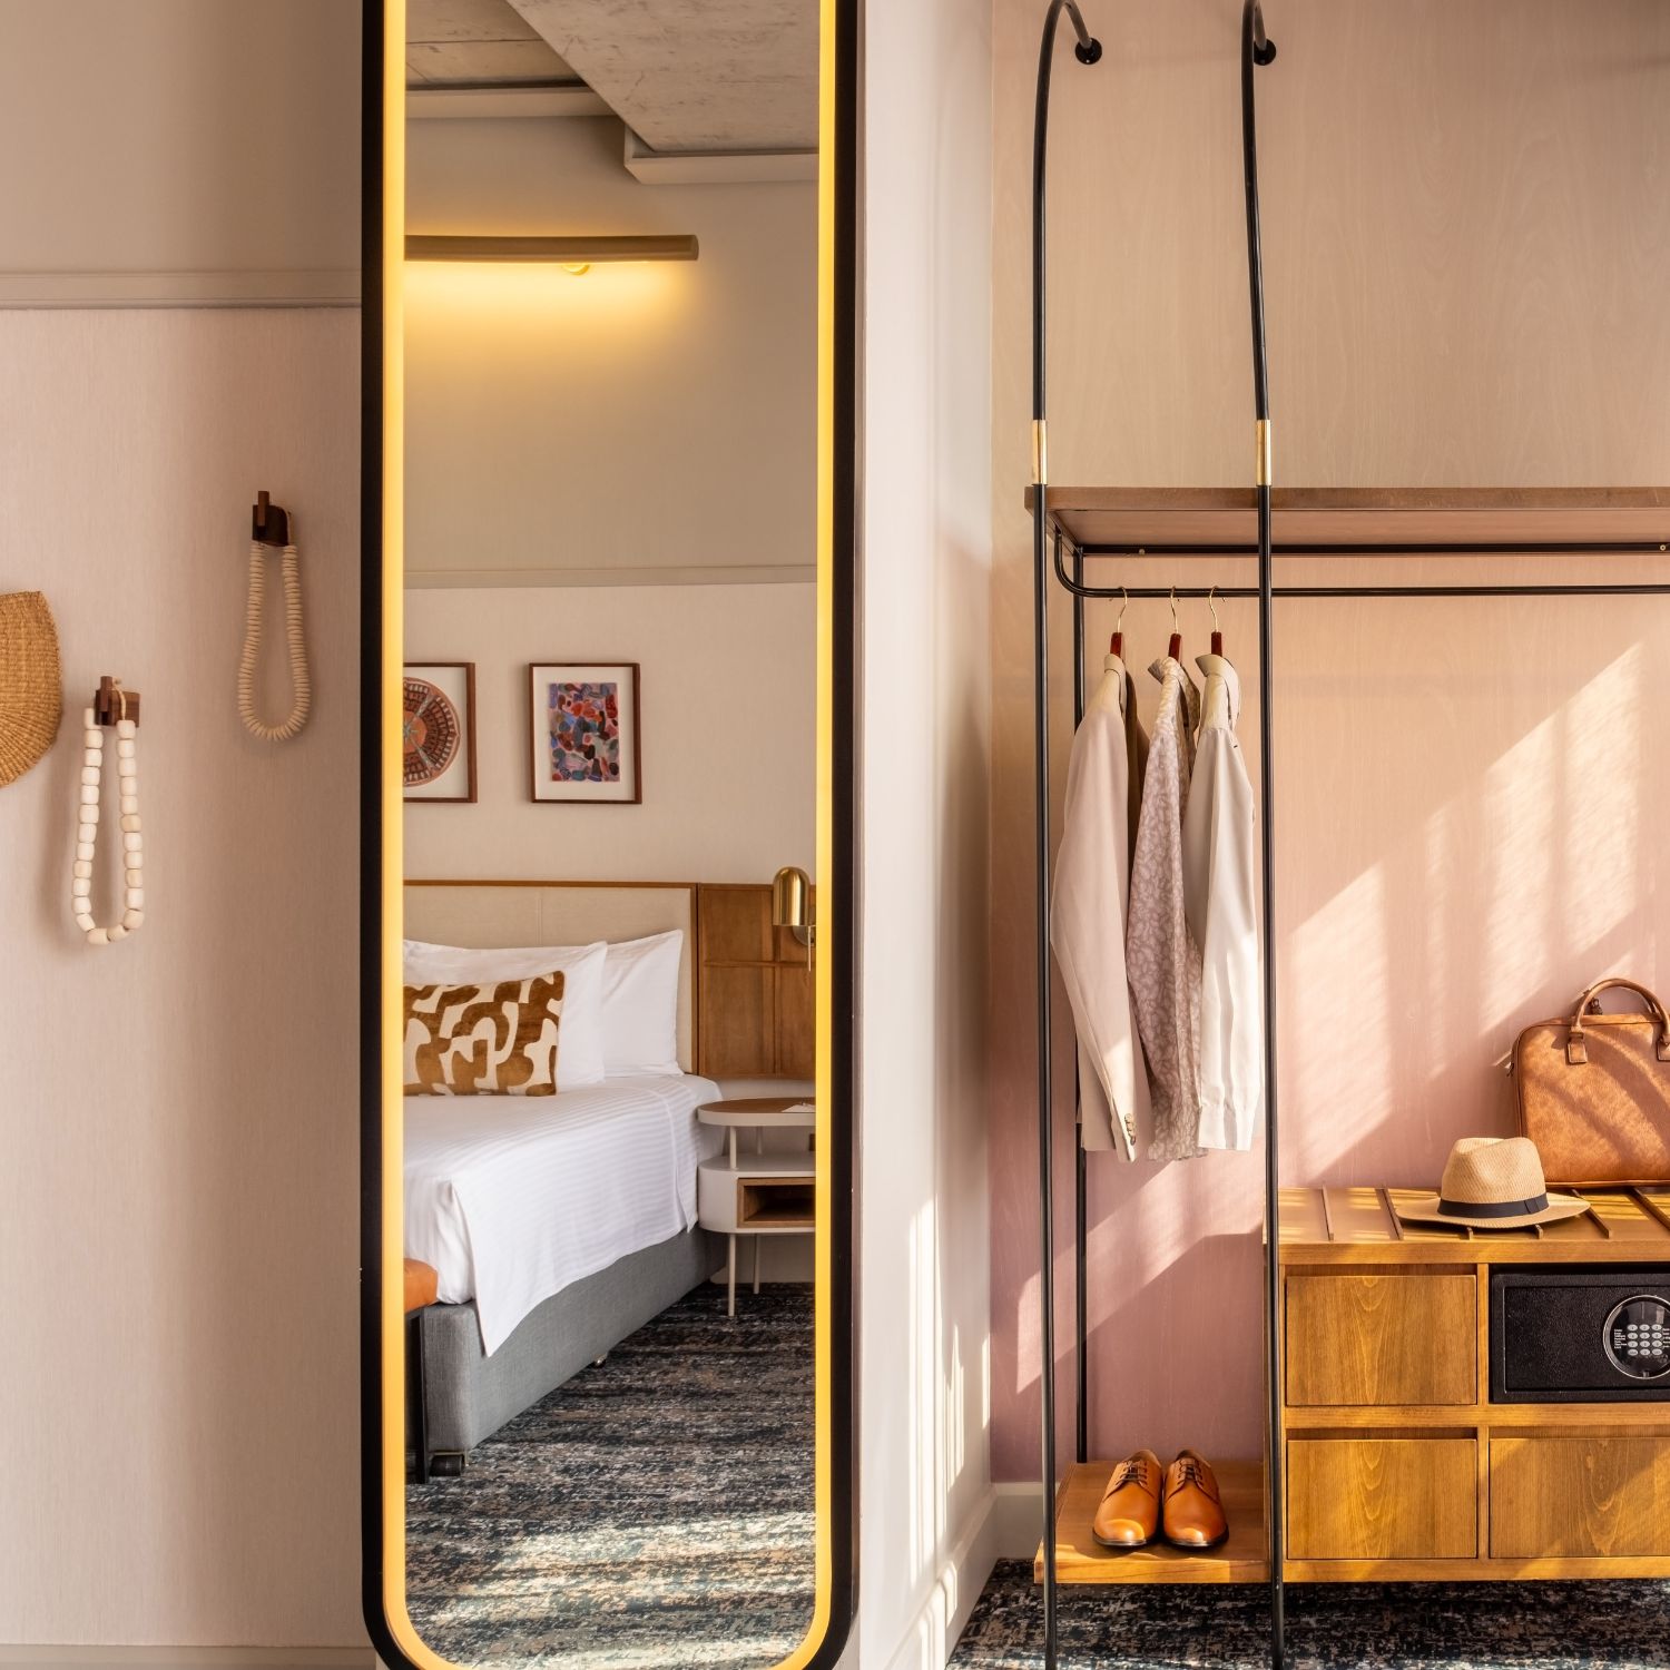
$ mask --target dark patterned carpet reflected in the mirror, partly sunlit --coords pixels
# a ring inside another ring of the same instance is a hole
[[[698,1288],[407,1486],[418,1633],[459,1665],[767,1667],[812,1622],[812,1289]]]

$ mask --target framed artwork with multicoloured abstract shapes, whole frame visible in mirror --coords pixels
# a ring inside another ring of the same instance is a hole
[[[534,663],[528,690],[533,798],[553,805],[638,805],[638,663]]]

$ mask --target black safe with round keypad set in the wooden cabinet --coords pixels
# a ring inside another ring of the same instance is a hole
[[[1490,1401],[1670,1401],[1670,1266],[1491,1271]]]

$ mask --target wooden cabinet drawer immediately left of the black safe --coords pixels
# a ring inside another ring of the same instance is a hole
[[[1288,1403],[1456,1404],[1478,1398],[1478,1283],[1289,1276]]]

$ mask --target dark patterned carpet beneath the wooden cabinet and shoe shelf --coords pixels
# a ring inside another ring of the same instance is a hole
[[[1044,1603],[1005,1560],[952,1665],[1035,1670]],[[1060,1670],[1268,1670],[1263,1586],[1060,1592]],[[1618,1670],[1670,1665],[1670,1583],[1309,1583],[1288,1590],[1289,1670]]]

